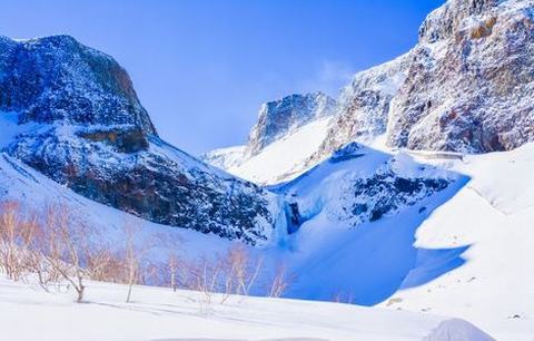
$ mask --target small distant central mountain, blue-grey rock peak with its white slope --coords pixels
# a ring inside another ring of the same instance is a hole
[[[294,170],[294,166],[305,164],[305,158],[312,156],[312,153],[306,153],[303,148],[312,152],[317,149],[317,146],[309,147],[310,140],[308,137],[304,137],[303,140],[301,138],[296,138],[295,135],[305,136],[306,134],[300,133],[303,129],[313,129],[318,136],[324,135],[317,128],[305,127],[308,124],[315,126],[316,121],[322,121],[319,126],[324,126],[336,114],[336,100],[323,92],[294,94],[265,103],[259,109],[258,123],[250,129],[246,145],[211,150],[200,158],[222,169],[229,170],[231,168],[230,173],[256,183],[263,184],[280,181],[284,178],[283,174],[290,173]],[[320,130],[320,128],[318,129]],[[258,174],[259,168],[265,170],[265,166],[258,167],[258,165],[263,164],[265,158],[271,158],[265,155],[271,154],[279,140],[291,140],[294,143],[291,149],[298,148],[298,152],[287,150],[288,154],[286,154],[285,159],[291,163],[290,165],[287,165],[287,162],[283,162],[284,165],[279,167],[269,164],[267,168],[275,176],[266,178]]]

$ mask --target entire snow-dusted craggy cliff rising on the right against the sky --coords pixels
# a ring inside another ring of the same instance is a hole
[[[534,1],[449,0],[408,53],[357,74],[309,164],[344,144],[487,153],[534,140]]]

